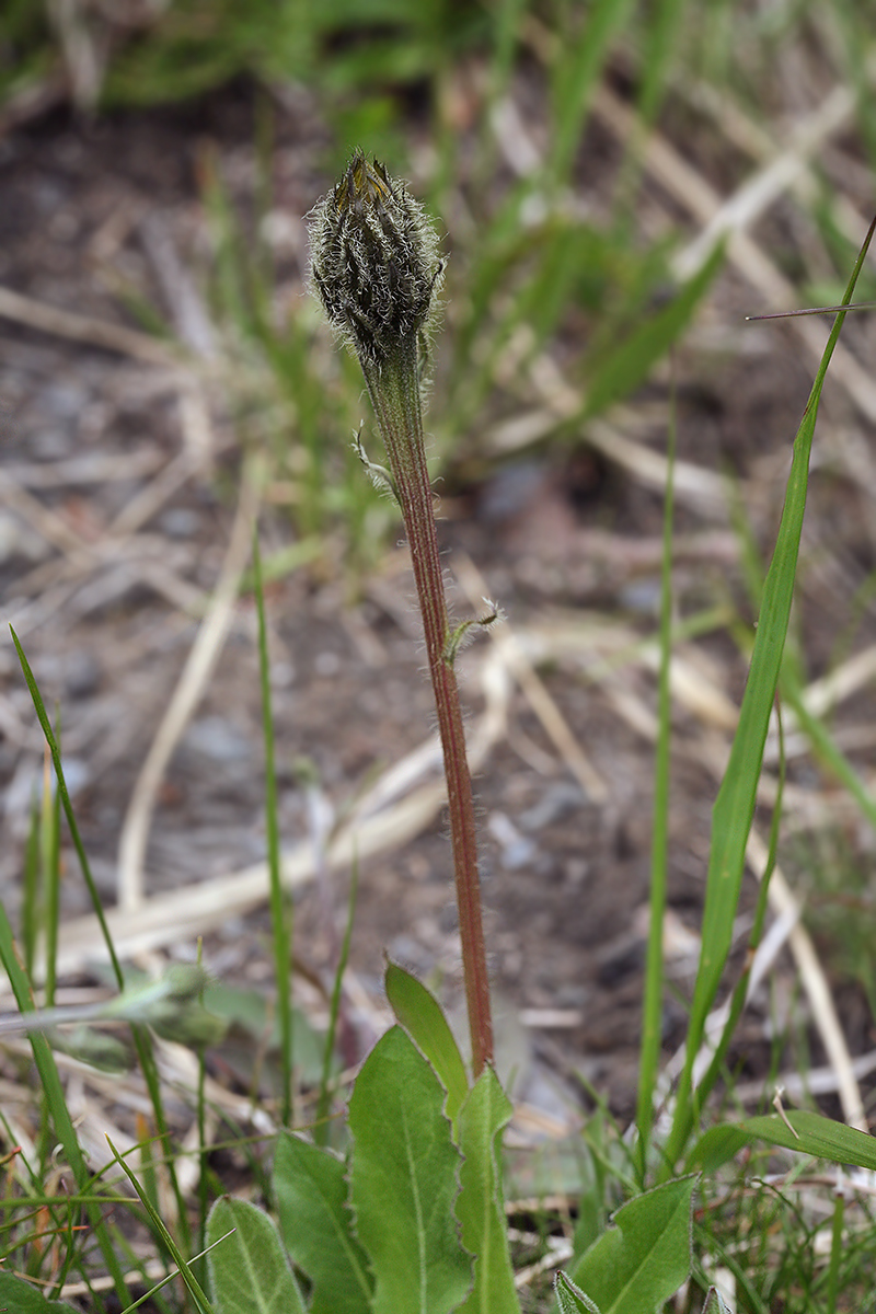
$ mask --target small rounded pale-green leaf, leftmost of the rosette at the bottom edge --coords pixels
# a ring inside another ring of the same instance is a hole
[[[225,1238],[208,1255],[219,1314],[305,1314],[277,1229],[261,1209],[223,1196],[210,1210],[206,1235],[209,1244]]]

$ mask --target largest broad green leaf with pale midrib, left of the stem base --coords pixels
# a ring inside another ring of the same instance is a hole
[[[374,1273],[374,1314],[444,1314],[471,1285],[453,1218],[461,1156],[443,1105],[437,1076],[394,1026],[349,1101],[352,1204]]]

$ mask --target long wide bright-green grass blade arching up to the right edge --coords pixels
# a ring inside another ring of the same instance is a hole
[[[855,263],[843,305],[851,301],[875,229],[876,219],[867,233]],[[683,1154],[693,1121],[693,1092],[691,1088],[693,1062],[703,1041],[705,1018],[717,995],[730,950],[733,918],[739,899],[746,842],[754,819],[763,746],[788,633],[800,535],[806,507],[809,455],[818,415],[818,402],[843,321],[844,313],[841,311],[830,331],[806,410],[797,430],[781,523],[763,587],[760,619],[739,711],[739,723],[712,815],[712,848],[703,915],[703,950],[691,1005],[684,1071],[679,1083],[672,1130],[666,1147],[667,1172],[671,1171],[670,1166]]]

